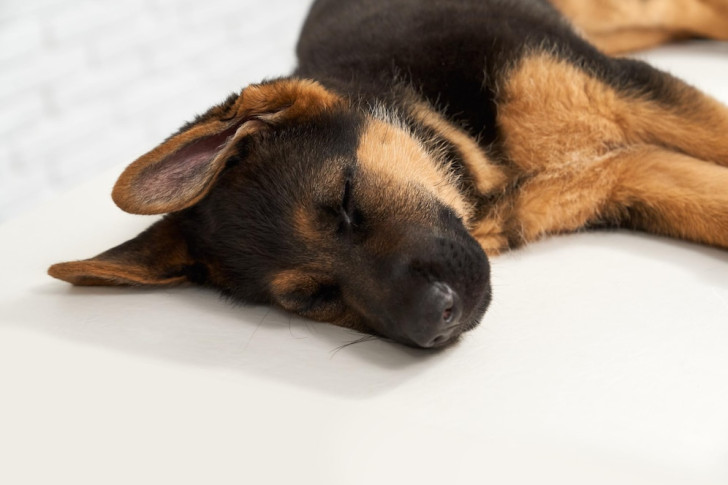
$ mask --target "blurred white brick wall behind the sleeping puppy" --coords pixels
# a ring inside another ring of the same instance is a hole
[[[0,0],[0,222],[290,72],[310,0]]]

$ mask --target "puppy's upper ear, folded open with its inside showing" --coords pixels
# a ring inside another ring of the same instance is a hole
[[[132,163],[114,186],[114,202],[133,214],[164,214],[190,207],[212,188],[238,140],[314,116],[340,102],[341,98],[310,80],[249,86]]]

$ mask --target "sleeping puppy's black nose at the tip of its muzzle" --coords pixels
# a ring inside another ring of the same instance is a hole
[[[418,347],[432,348],[448,343],[459,332],[462,315],[460,297],[447,283],[435,282],[422,292],[409,325],[407,337]]]

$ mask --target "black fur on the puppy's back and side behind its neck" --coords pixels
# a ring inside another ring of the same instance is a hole
[[[544,0],[318,0],[298,44],[297,74],[344,81],[375,98],[390,96],[394,80],[412,83],[492,141],[497,86],[536,46],[600,57]]]

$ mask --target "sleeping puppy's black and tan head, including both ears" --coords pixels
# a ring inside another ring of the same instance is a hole
[[[489,265],[442,153],[396,116],[307,80],[250,86],[130,165],[113,198],[168,214],[50,274],[207,284],[419,347],[475,325]]]

